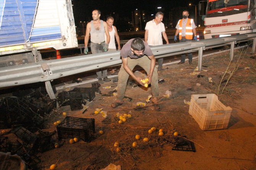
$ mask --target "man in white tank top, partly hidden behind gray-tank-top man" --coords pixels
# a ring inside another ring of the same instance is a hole
[[[117,51],[121,49],[120,46],[120,38],[119,35],[117,33],[117,28],[115,26],[113,26],[114,23],[114,18],[112,16],[107,17],[107,25],[108,25],[108,29],[109,29],[109,35],[110,35],[110,41],[109,41],[109,50],[108,51]],[[115,39],[117,40],[117,47],[115,46]],[[107,36],[105,34],[105,41],[107,41]],[[117,75],[118,71],[115,69],[112,69],[110,71],[111,75]]]

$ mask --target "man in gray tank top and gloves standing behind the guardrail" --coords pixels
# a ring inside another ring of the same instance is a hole
[[[109,29],[105,21],[100,20],[100,10],[92,11],[92,21],[86,25],[86,33],[84,37],[84,54],[88,53],[89,35],[91,35],[91,51],[92,54],[107,52],[109,49]],[[105,34],[107,36],[105,42]],[[109,82],[107,78],[107,70],[96,72],[98,82],[103,84],[104,81]]]

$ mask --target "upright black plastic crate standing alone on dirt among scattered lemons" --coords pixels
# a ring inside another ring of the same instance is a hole
[[[77,137],[83,141],[91,142],[95,133],[95,120],[66,116],[57,126],[58,139]]]

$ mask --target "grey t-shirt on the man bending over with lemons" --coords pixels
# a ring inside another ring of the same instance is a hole
[[[123,57],[123,58],[130,57],[131,59],[137,59],[137,58],[139,58],[138,56],[131,54],[131,41],[133,41],[133,40],[134,40],[134,38],[131,39],[131,40],[129,40],[129,41],[123,46],[123,48],[121,49],[121,52],[120,52],[121,57]],[[145,41],[143,41],[143,43],[144,43],[144,45],[145,45],[145,50],[143,51],[142,56],[144,56],[144,55],[152,56],[153,53],[152,53],[150,47],[145,43]],[[141,56],[141,57],[142,57],[142,56]]]

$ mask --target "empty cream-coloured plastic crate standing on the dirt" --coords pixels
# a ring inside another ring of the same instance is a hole
[[[188,113],[202,130],[227,128],[231,112],[232,108],[223,105],[215,94],[191,95]]]

